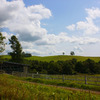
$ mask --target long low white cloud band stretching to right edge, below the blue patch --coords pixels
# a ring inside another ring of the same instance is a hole
[[[92,38],[92,37],[69,37],[67,33],[61,32],[58,35],[55,34],[49,34],[46,35],[43,39],[36,41],[36,45],[55,45],[58,43],[78,43],[79,45],[85,45],[85,44],[95,44],[100,42],[100,39],[98,38]]]

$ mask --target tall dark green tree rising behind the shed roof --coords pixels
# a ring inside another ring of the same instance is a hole
[[[9,54],[11,55],[11,61],[14,62],[22,62],[23,61],[23,52],[21,44],[19,43],[16,36],[12,36],[11,39],[9,39],[9,44],[11,44],[11,49],[13,50]]]

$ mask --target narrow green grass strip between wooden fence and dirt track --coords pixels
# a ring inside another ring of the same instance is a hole
[[[47,84],[47,85],[56,85],[56,86],[64,86],[64,87],[72,87],[72,88],[100,91],[100,86],[77,84],[76,82],[71,82],[71,81],[62,82],[62,80],[48,80],[48,79],[30,78],[30,77],[22,78],[22,80],[29,81],[29,82],[42,83],[42,84]]]

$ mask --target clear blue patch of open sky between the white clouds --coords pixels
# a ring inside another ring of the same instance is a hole
[[[48,24],[46,27],[48,32],[58,34],[62,30],[66,31],[65,26],[84,20],[87,16],[85,8],[98,7],[100,8],[99,0],[24,0],[26,6],[32,4],[43,4],[52,12],[52,17],[49,20],[43,20],[43,23]]]

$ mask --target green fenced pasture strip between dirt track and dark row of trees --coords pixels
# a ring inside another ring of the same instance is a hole
[[[100,75],[47,75],[13,72],[24,81],[100,91]]]

